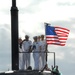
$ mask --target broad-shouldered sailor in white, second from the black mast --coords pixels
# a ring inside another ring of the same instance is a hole
[[[22,61],[22,70],[27,69],[30,66],[30,52],[31,52],[32,42],[29,40],[29,36],[25,36],[25,40],[22,43],[23,49],[23,61]]]

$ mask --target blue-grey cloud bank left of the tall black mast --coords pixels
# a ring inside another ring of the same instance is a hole
[[[0,25],[0,70],[7,70],[11,62],[10,26]],[[5,66],[4,66],[5,65]]]

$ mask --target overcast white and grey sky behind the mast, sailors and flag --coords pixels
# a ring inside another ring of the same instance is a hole
[[[0,71],[11,69],[11,1],[0,0]],[[19,9],[19,37],[30,39],[45,33],[44,22],[68,28],[70,34],[64,47],[49,45],[56,52],[56,64],[63,75],[75,72],[75,0],[17,0]],[[49,65],[53,55],[48,54]]]

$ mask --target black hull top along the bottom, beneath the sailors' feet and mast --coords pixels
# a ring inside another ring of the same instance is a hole
[[[51,75],[50,72],[39,72],[39,71],[14,71],[14,72],[3,72],[0,75]]]

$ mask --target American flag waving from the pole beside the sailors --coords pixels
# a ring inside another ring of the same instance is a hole
[[[46,25],[47,44],[65,46],[70,30],[63,27]]]

